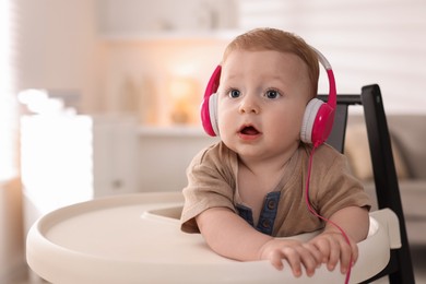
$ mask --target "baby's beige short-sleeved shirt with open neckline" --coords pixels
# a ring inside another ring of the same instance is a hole
[[[305,200],[310,151],[310,146],[300,144],[287,163],[282,187],[275,189],[281,191],[281,197],[272,236],[287,237],[323,227],[323,222],[309,212]],[[201,151],[192,159],[187,169],[188,186],[184,189],[184,232],[199,233],[194,217],[210,208],[228,208],[237,213],[236,204],[242,204],[237,173],[237,154],[223,142]],[[326,218],[351,205],[370,208],[360,181],[350,173],[346,157],[327,144],[313,154],[309,200]]]

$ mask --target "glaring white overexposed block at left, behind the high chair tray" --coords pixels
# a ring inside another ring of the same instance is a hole
[[[93,198],[93,119],[23,116],[22,182],[43,214]]]

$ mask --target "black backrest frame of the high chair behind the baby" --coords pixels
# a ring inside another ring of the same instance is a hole
[[[318,97],[328,99],[326,95]],[[344,153],[347,111],[351,105],[362,105],[364,108],[378,209],[389,208],[398,215],[402,244],[401,248],[391,250],[388,265],[363,283],[370,283],[386,275],[391,284],[415,283],[383,99],[377,84],[362,87],[362,93],[357,95],[338,95],[333,130],[327,143]]]

